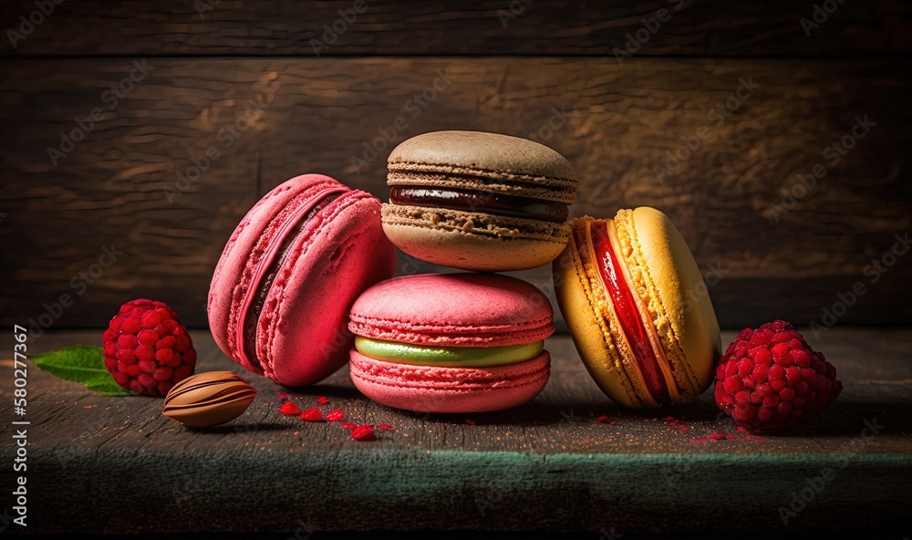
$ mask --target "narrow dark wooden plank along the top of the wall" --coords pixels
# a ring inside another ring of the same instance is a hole
[[[80,1],[41,16],[34,0],[17,0],[6,3],[0,55],[614,57],[617,47],[641,56],[832,56],[912,50],[910,8],[895,1],[609,4],[167,0],[151,8],[138,0]],[[29,17],[40,21],[33,29],[23,23]]]

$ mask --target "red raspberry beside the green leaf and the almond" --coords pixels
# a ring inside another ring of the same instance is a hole
[[[145,396],[164,397],[196,367],[190,334],[164,302],[139,298],[120,306],[102,341],[114,380]]]

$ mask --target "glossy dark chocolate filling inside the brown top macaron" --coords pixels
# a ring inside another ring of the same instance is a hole
[[[553,223],[564,223],[569,213],[564,203],[452,188],[394,186],[389,190],[389,202],[463,212],[493,213]]]

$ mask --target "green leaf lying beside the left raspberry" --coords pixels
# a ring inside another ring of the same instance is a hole
[[[106,396],[130,396],[133,392],[120,387],[105,367],[104,349],[76,345],[44,352],[30,359],[35,365],[60,379],[81,382],[86,388]]]

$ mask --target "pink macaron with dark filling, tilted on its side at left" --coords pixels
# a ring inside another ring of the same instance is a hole
[[[249,371],[314,384],[347,363],[355,299],[395,272],[377,197],[296,176],[255,203],[225,244],[209,289],[212,337]]]

